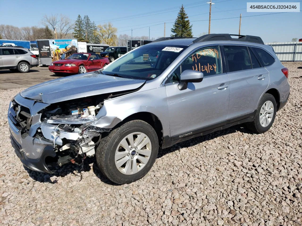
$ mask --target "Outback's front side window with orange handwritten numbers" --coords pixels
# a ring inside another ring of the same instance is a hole
[[[219,46],[208,46],[193,52],[170,75],[167,83],[180,81],[180,75],[185,70],[195,70],[204,73],[204,77],[221,74],[221,57]]]

